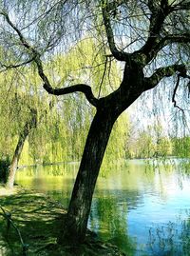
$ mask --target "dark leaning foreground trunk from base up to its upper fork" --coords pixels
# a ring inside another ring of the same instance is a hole
[[[141,82],[138,79],[142,77],[137,76],[137,71],[137,69],[130,70],[130,75],[125,71],[126,74],[121,87],[102,98],[100,105],[97,107],[97,113],[85,142],[85,149],[72,191],[66,221],[58,238],[60,244],[76,245],[82,243],[85,239],[94,187],[111,130],[123,110],[128,108],[142,94],[142,89],[135,88],[136,84],[139,85]],[[142,69],[140,71],[142,75]],[[130,87],[126,89],[125,85],[130,85]]]

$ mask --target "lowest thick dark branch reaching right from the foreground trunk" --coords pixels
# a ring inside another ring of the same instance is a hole
[[[186,68],[182,64],[174,64],[165,68],[156,69],[150,77],[144,78],[144,91],[155,88],[161,82],[162,78],[172,76],[176,72],[179,72],[183,78],[189,78],[186,74]]]

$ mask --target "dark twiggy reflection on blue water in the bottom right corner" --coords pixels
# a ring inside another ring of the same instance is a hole
[[[190,221],[180,226],[169,222],[166,226],[149,229],[148,250],[151,255],[189,256]]]

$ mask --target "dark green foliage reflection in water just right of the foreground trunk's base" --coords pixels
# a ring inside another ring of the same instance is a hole
[[[94,200],[94,205],[90,214],[91,227],[99,231],[100,237],[119,246],[127,255],[134,255],[136,243],[126,235],[127,205],[111,196]],[[93,215],[98,218],[98,223],[93,222]]]

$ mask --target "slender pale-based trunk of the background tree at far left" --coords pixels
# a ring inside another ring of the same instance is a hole
[[[7,188],[12,188],[14,185],[16,169],[18,167],[18,162],[19,162],[25,141],[27,139],[28,133],[29,133],[29,128],[28,128],[28,123],[26,123],[23,132],[20,133],[18,143],[17,143],[17,146],[15,148],[15,151],[14,151],[11,163],[10,163],[10,170],[9,170],[8,178],[7,178],[7,182],[6,182]]]

